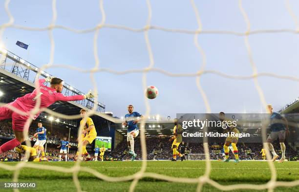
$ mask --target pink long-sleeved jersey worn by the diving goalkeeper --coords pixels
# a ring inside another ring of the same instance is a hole
[[[73,96],[65,96],[62,93],[58,93],[54,88],[43,85],[45,79],[40,79],[40,93],[37,95],[37,89],[34,89],[32,93],[28,93],[18,99],[16,99],[16,103],[20,105],[24,109],[24,111],[29,112],[35,107],[36,100],[38,97],[41,97],[41,106],[40,108],[46,108],[52,105],[57,101],[77,101],[83,100],[84,95],[73,95]],[[40,112],[38,112],[33,119],[36,119],[39,116]]]

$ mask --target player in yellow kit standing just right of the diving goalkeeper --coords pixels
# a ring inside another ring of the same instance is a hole
[[[91,160],[91,157],[86,150],[86,145],[91,144],[93,140],[95,140],[95,138],[97,137],[97,131],[94,127],[92,119],[90,117],[85,117],[86,115],[85,109],[80,110],[80,115],[82,117],[82,120],[80,121],[81,137],[83,137],[83,135],[85,135],[85,137],[82,138],[81,143],[78,143],[78,147],[79,145],[82,145],[82,156],[85,155],[86,156],[85,161],[89,161]],[[79,151],[77,152],[77,155],[78,154]]]

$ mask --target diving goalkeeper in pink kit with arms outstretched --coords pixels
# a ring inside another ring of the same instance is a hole
[[[45,86],[43,83],[50,82],[50,86]],[[55,77],[47,77],[45,79],[40,79],[39,82],[40,92],[34,89],[32,93],[27,93],[26,95],[17,98],[14,102],[6,104],[0,107],[0,121],[5,119],[12,119],[12,129],[15,133],[16,138],[10,140],[0,146],[0,154],[14,149],[15,147],[21,145],[25,141],[23,132],[27,132],[30,124],[29,119],[35,120],[41,111],[35,114],[30,114],[30,111],[34,109],[38,98],[40,98],[40,109],[46,108],[58,101],[77,101],[84,100],[86,98],[92,98],[93,93],[89,91],[86,95],[73,95],[65,96],[62,94],[63,90],[63,80]],[[20,114],[9,107],[15,107],[21,110],[25,115]]]

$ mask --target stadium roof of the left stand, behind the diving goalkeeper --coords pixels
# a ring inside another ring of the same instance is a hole
[[[5,57],[4,60],[0,61],[0,91],[3,92],[0,101],[2,103],[9,103],[18,97],[32,92],[35,89],[33,81],[37,71],[40,69],[35,65],[22,60],[20,57],[9,51],[5,50],[3,52],[3,50],[0,50],[0,54],[2,54],[1,56]],[[46,77],[49,76],[49,74],[42,71],[41,76]],[[64,83],[63,94],[75,95],[83,93],[78,89]],[[93,99],[85,99],[76,102],[56,102],[48,108],[64,115],[76,115],[79,114],[79,111],[82,108],[88,110],[89,108],[93,107],[93,101]],[[96,110],[96,114],[92,116],[95,122],[104,122],[106,120],[114,122],[112,117],[103,113],[105,112],[105,105],[98,102]],[[44,118],[45,114],[41,113],[41,115],[43,116],[40,117]],[[73,127],[76,127],[75,124],[77,120],[74,120],[73,122]]]

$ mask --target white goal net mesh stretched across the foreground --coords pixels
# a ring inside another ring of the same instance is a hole
[[[200,94],[203,98],[205,107],[206,107],[206,112],[207,113],[211,113],[211,107],[209,104],[209,99],[205,93],[205,91],[202,88],[201,85],[201,76],[203,74],[215,74],[218,76],[222,76],[224,78],[230,78],[230,79],[243,79],[243,80],[248,80],[248,79],[253,79],[255,86],[256,86],[256,90],[258,91],[259,94],[259,98],[261,103],[263,104],[264,107],[266,107],[266,100],[263,94],[263,90],[261,89],[257,77],[261,77],[261,76],[268,76],[268,77],[273,77],[273,78],[279,78],[279,79],[288,79],[288,80],[292,80],[292,81],[299,81],[299,78],[297,77],[292,77],[292,76],[282,76],[279,74],[274,74],[274,73],[258,73],[257,69],[256,69],[256,64],[254,62],[254,58],[253,58],[253,54],[251,51],[251,46],[250,46],[250,42],[249,42],[249,36],[253,35],[253,34],[264,34],[264,33],[294,33],[297,34],[299,33],[299,21],[298,18],[296,17],[296,15],[294,14],[294,12],[292,11],[292,7],[289,3],[289,0],[286,0],[286,10],[288,11],[288,13],[290,14],[290,16],[293,18],[294,22],[296,23],[297,28],[296,29],[270,29],[270,30],[255,30],[252,31],[251,30],[251,23],[250,20],[247,16],[246,11],[244,10],[244,8],[242,7],[242,1],[238,0],[238,8],[239,11],[241,12],[243,18],[244,18],[244,22],[246,23],[246,30],[245,32],[236,32],[236,31],[219,31],[219,30],[210,30],[210,31],[205,31],[202,29],[202,24],[201,24],[201,19],[200,19],[200,14],[199,11],[194,3],[194,0],[191,0],[191,5],[193,8],[193,11],[195,13],[196,16],[196,22],[197,22],[197,29],[196,30],[187,30],[187,29],[171,29],[171,28],[164,28],[164,27],[160,27],[160,26],[153,26],[151,25],[151,4],[150,4],[150,0],[146,0],[147,2],[147,7],[148,7],[148,19],[146,21],[146,25],[142,28],[132,28],[132,27],[128,27],[128,26],[120,26],[120,25],[113,25],[113,24],[108,24],[106,23],[106,15],[105,15],[105,10],[103,7],[103,0],[100,0],[100,13],[102,14],[102,21],[99,22],[96,26],[89,28],[89,29],[85,29],[85,30],[78,30],[78,29],[74,29],[74,28],[70,28],[70,27],[66,27],[66,26],[62,26],[62,25],[57,25],[56,24],[56,20],[57,20],[57,9],[56,9],[56,0],[52,0],[52,20],[49,23],[48,26],[46,27],[42,27],[42,28],[34,28],[34,27],[25,27],[25,26],[21,26],[21,25],[17,25],[14,24],[14,17],[11,14],[10,10],[9,10],[9,3],[10,0],[5,0],[4,2],[4,8],[5,11],[7,13],[7,16],[9,17],[9,20],[6,23],[3,23],[0,25],[0,44],[3,45],[3,32],[5,31],[6,28],[16,28],[16,29],[22,29],[22,30],[27,30],[27,31],[46,31],[48,32],[49,35],[49,40],[50,40],[50,44],[51,44],[51,49],[50,49],[50,60],[48,62],[48,64],[43,65],[43,67],[41,68],[42,70],[45,70],[47,68],[51,68],[51,67],[63,67],[63,68],[67,68],[70,70],[77,70],[79,72],[84,72],[84,73],[89,73],[90,74],[90,78],[91,78],[91,82],[93,83],[93,90],[95,92],[97,92],[97,84],[95,82],[94,79],[94,75],[95,73],[100,73],[100,72],[108,72],[108,73],[112,73],[112,74],[129,74],[129,73],[142,73],[142,82],[143,82],[143,87],[142,89],[144,90],[147,87],[147,74],[149,71],[155,71],[155,72],[159,72],[163,75],[167,75],[167,76],[172,76],[172,77],[191,77],[194,76],[196,77],[196,85],[198,90],[200,91]],[[143,33],[144,34],[144,40],[147,46],[147,51],[149,54],[149,64],[147,67],[143,68],[143,69],[132,69],[132,70],[124,70],[124,71],[116,71],[116,70],[112,70],[112,69],[108,69],[108,68],[102,68],[100,67],[100,60],[99,60],[99,56],[98,56],[98,45],[97,45],[97,39],[98,39],[98,35],[99,35],[99,31],[102,28],[115,28],[115,29],[122,29],[122,30],[126,30],[126,31],[130,31],[130,32],[137,32],[137,33]],[[79,33],[79,34],[84,34],[84,33],[90,33],[93,32],[94,33],[94,38],[93,38],[93,53],[94,53],[94,59],[95,59],[95,65],[92,69],[84,69],[84,68],[78,68],[78,67],[74,67],[74,66],[70,66],[70,65],[65,65],[65,64],[54,64],[54,50],[55,50],[55,40],[53,37],[53,30],[54,29],[62,29],[62,30],[67,30],[67,31],[71,31],[74,33]],[[153,57],[153,53],[152,53],[152,49],[151,49],[151,45],[150,45],[150,41],[149,41],[149,30],[160,30],[160,31],[167,31],[167,32],[172,32],[172,33],[185,33],[185,34],[190,34],[193,35],[193,42],[195,47],[198,50],[198,53],[201,55],[202,58],[202,64],[201,66],[198,66],[198,71],[194,72],[194,73],[171,73],[169,71],[163,70],[161,68],[155,68],[154,67],[154,57]],[[202,49],[202,47],[200,46],[199,42],[198,42],[198,36],[201,34],[227,34],[227,35],[234,35],[234,36],[242,36],[244,37],[244,43],[247,49],[247,54],[248,54],[248,58],[252,67],[252,75],[249,76],[234,76],[234,75],[229,75],[229,74],[225,74],[221,71],[217,71],[217,70],[206,70],[206,55],[204,50]],[[5,47],[4,47],[5,48]],[[3,55],[1,56],[1,59],[3,59]],[[36,85],[36,87],[38,87]],[[36,111],[39,109],[39,100],[38,100],[38,104],[36,106]],[[95,102],[97,102],[97,98],[95,98]],[[1,104],[4,105],[4,104]],[[148,100],[145,98],[145,105],[146,105],[146,112],[145,112],[145,117],[148,117],[150,114],[150,106],[149,106],[149,102]],[[47,113],[54,115],[56,117],[60,117],[60,118],[64,118],[64,119],[78,119],[79,115],[74,115],[74,116],[67,116],[64,114],[59,114],[56,113],[54,111],[51,111],[49,109],[42,109],[43,111],[46,111]],[[36,112],[36,111],[32,111],[32,113]],[[21,113],[21,111],[18,111]],[[95,110],[90,110],[88,113],[88,116],[92,115],[93,113],[95,113]],[[112,119],[109,116],[106,116],[105,114],[99,114],[100,116],[103,116],[113,122],[115,122],[116,120]],[[30,123],[30,122],[28,122]],[[142,157],[143,159],[146,160],[147,157],[147,150],[146,150],[146,142],[145,142],[145,133],[144,133],[144,122],[142,122],[142,125],[140,126],[140,139],[141,139],[141,149],[142,149]],[[25,133],[27,134],[27,133]],[[265,141],[265,132],[262,133],[263,134],[263,141]],[[204,143],[204,152],[205,152],[205,159],[210,159],[209,156],[209,146],[208,146],[208,141],[205,141],[206,143]],[[264,146],[264,148],[266,148],[266,146]],[[268,154],[268,159],[270,158],[269,156],[269,152]],[[202,155],[201,155],[202,156]],[[211,162],[210,161],[206,161],[206,170],[205,170],[205,174],[198,177],[198,178],[177,178],[177,177],[171,177],[171,176],[166,176],[166,175],[162,175],[162,174],[157,174],[157,173],[153,173],[153,172],[145,172],[146,168],[147,168],[147,161],[143,161],[142,162],[142,167],[140,169],[140,171],[136,172],[133,175],[129,175],[129,176],[122,176],[122,177],[110,177],[107,176],[105,174],[102,174],[100,172],[94,171],[90,168],[86,168],[86,167],[82,167],[81,166],[81,162],[78,161],[74,164],[73,167],[71,168],[63,168],[63,167],[58,167],[58,166],[48,166],[48,165],[42,165],[42,164],[31,164],[28,162],[20,162],[19,164],[17,164],[16,166],[10,166],[7,164],[0,164],[0,168],[4,169],[4,170],[13,170],[14,171],[14,178],[13,181],[18,181],[18,177],[19,177],[19,173],[21,168],[31,168],[31,169],[40,169],[40,170],[51,170],[51,171],[60,171],[60,172],[67,172],[67,173],[72,173],[73,174],[73,181],[75,183],[75,186],[78,190],[78,192],[82,191],[81,190],[81,186],[78,180],[78,172],[79,171],[85,171],[88,172],[90,174],[93,174],[94,176],[98,177],[99,179],[103,179],[105,181],[110,181],[110,182],[119,182],[119,181],[130,181],[131,185],[129,188],[130,192],[133,192],[136,184],[138,183],[138,181],[143,178],[143,177],[151,177],[151,178],[156,178],[156,179],[161,179],[161,180],[165,180],[165,181],[169,181],[169,182],[181,182],[181,183],[196,183],[198,184],[197,187],[197,192],[200,192],[202,190],[202,186],[203,184],[210,184],[211,186],[220,189],[220,190],[224,190],[224,191],[229,191],[229,190],[237,190],[237,189],[255,189],[255,190],[265,190],[267,189],[268,192],[273,192],[274,189],[276,187],[279,186],[296,186],[299,185],[299,180],[296,181],[291,181],[291,182],[286,182],[286,181],[277,181],[277,173],[276,173],[276,169],[274,167],[273,162],[268,161],[269,167],[271,169],[271,180],[265,184],[260,184],[260,185],[255,185],[255,184],[235,184],[235,185],[221,185],[217,182],[215,182],[214,180],[210,179],[210,173],[211,173]],[[19,190],[15,190],[15,191],[19,191]]]

